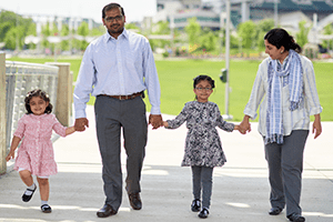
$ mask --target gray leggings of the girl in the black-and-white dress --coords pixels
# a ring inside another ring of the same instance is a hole
[[[213,186],[213,168],[192,165],[193,196],[201,200],[202,189],[202,208],[210,209]]]

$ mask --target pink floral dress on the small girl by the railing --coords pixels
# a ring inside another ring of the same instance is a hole
[[[14,170],[29,170],[37,176],[57,174],[53,147],[51,141],[52,129],[61,137],[65,137],[63,127],[54,114],[24,114],[18,122],[14,135],[22,139],[18,150]]]

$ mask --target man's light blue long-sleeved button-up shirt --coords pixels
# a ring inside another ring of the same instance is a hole
[[[143,90],[149,94],[151,114],[161,114],[160,82],[148,39],[125,29],[118,39],[107,32],[83,54],[74,89],[75,119],[87,117],[90,93],[129,95]]]

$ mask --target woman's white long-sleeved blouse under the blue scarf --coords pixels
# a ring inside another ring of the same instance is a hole
[[[286,58],[287,59],[287,58]],[[285,60],[286,60],[285,59]],[[252,92],[249,102],[244,109],[244,114],[249,115],[252,120],[256,118],[256,110],[259,104],[259,132],[266,135],[266,111],[268,111],[268,98],[265,97],[268,84],[268,69],[269,61],[271,59],[264,59],[259,65],[256,78],[253,83]],[[303,101],[299,109],[291,111],[290,108],[290,91],[289,84],[283,84],[282,88],[282,117],[284,135],[291,134],[292,130],[309,130],[310,129],[310,115],[319,114],[323,108],[320,104],[319,95],[315,87],[315,77],[312,62],[301,56],[301,62],[303,68]],[[280,78],[283,83],[283,78]]]

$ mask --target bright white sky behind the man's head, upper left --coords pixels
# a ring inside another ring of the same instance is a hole
[[[124,8],[127,22],[142,21],[143,17],[157,13],[157,0],[1,0],[0,9],[19,14],[71,16],[102,22],[102,9],[111,2]]]

